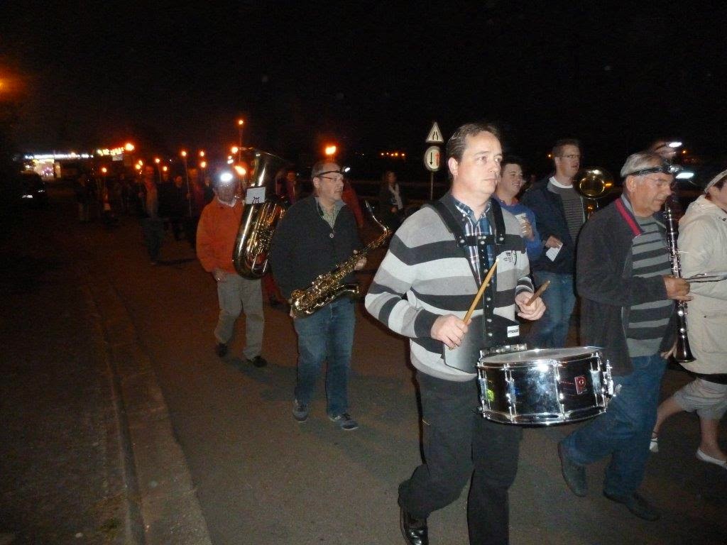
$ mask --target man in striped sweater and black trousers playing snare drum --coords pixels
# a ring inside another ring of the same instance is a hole
[[[545,304],[539,298],[527,304],[533,286],[520,225],[490,198],[502,161],[497,129],[461,126],[447,143],[447,156],[450,192],[397,230],[366,295],[366,310],[410,338],[417,369],[425,460],[399,485],[406,543],[428,543],[427,517],[457,499],[474,470],[467,508],[470,542],[507,544],[507,491],[515,480],[521,429],[475,413],[476,361],[464,371],[445,360],[468,330],[484,347],[517,342],[515,307],[518,316],[537,320]],[[473,320],[465,323],[462,318],[496,258],[497,274]]]

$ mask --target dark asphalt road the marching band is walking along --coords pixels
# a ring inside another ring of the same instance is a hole
[[[113,286],[124,302],[214,544],[403,542],[397,485],[419,463],[417,401],[403,339],[359,305],[350,413],[361,427],[343,432],[326,418],[322,384],[310,419],[297,424],[295,335],[284,311],[265,307],[267,368],[241,363],[241,322],[231,355],[220,360],[213,351],[214,281],[185,241],[167,233],[161,264],[153,266],[133,218],[121,217],[119,227],[106,231],[98,222],[76,225],[73,214],[71,194],[57,190],[38,228],[74,237],[84,247],[90,281]],[[364,230],[366,240],[374,236]],[[380,252],[372,258],[364,283]],[[663,395],[686,382],[683,372],[667,371]],[[577,425],[525,430],[510,494],[513,545],[727,542],[727,473],[694,458],[696,416],[667,421],[662,451],[649,462],[642,491],[662,510],[659,522],[639,520],[601,496],[606,461],[590,467],[586,498],[569,492],[555,447]],[[467,543],[465,497],[430,516],[432,544]]]

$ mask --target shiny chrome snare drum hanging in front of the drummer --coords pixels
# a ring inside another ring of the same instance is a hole
[[[599,350],[535,349],[481,358],[482,416],[503,424],[549,426],[603,413],[613,381]]]

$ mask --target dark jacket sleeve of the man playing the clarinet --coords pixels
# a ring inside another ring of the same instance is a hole
[[[601,304],[632,307],[667,299],[661,276],[623,278],[624,262],[618,261],[614,233],[606,222],[593,217],[578,238],[576,283],[580,296]],[[628,242],[630,243],[630,241]],[[630,247],[625,250],[629,254]]]

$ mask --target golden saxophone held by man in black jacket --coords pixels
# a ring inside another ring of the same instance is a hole
[[[337,265],[330,273],[318,275],[316,280],[313,280],[313,283],[308,288],[294,290],[291,294],[290,309],[298,318],[310,316],[316,310],[326,306],[326,304],[334,301],[334,299],[338,299],[342,295],[348,294],[350,297],[358,297],[361,294],[358,284],[344,284],[343,279],[353,272],[356,263],[366,257],[371,250],[377,249],[385,243],[386,239],[391,235],[391,230],[386,225],[383,225],[382,222],[379,222],[377,217],[374,216],[371,205],[367,201],[364,201],[364,205],[366,206],[366,210],[369,211],[371,219],[374,220],[376,225],[381,227],[383,233],[373,242],[369,243],[366,248],[353,254],[345,262]]]

